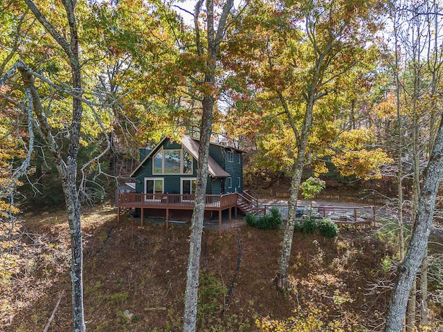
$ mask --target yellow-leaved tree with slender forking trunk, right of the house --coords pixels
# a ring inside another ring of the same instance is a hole
[[[376,1],[254,1],[233,29],[241,42],[230,44],[237,59],[230,63],[248,79],[233,90],[253,86],[260,111],[279,118],[273,123],[284,127],[280,142],[286,145],[280,145],[282,153],[277,154],[289,157],[291,190],[276,278],[281,290],[289,286],[302,172],[347,127],[345,118],[350,118],[352,107],[340,95],[346,75],[359,64],[370,33],[377,29],[374,8]],[[242,106],[244,100],[238,98],[237,104]]]

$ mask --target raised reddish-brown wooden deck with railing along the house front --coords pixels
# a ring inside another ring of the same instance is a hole
[[[120,212],[138,208],[141,210],[141,223],[146,209],[165,210],[166,227],[169,227],[170,210],[193,210],[195,195],[193,194],[118,194],[117,221]],[[235,208],[237,217],[237,193],[224,195],[206,195],[205,211],[218,211],[219,232],[221,233],[221,212],[228,210],[229,221],[232,221],[232,208]]]

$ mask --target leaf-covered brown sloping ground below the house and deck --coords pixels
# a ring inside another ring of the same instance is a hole
[[[48,331],[70,331],[66,214],[30,212],[24,219],[24,247],[34,254],[3,281],[1,330],[44,331],[61,297]],[[82,225],[87,330],[181,331],[189,225],[166,229],[129,216],[117,223],[111,207],[84,211]],[[375,228],[343,229],[334,239],[296,232],[292,289],[282,294],[273,282],[282,230],[257,230],[242,218],[221,236],[205,229],[197,330],[259,331],[256,322],[266,317],[294,317],[335,321],[344,331],[380,331],[395,277],[394,251],[385,239]]]

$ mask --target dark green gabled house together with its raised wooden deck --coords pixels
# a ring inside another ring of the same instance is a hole
[[[136,193],[118,196],[118,213],[125,208],[137,208],[143,216],[165,217],[168,226],[174,219],[190,219],[194,208],[199,140],[184,136],[181,142],[163,138],[154,149],[141,149],[141,162],[132,172]],[[221,230],[221,212],[237,208],[248,212],[258,202],[243,192],[243,154],[238,145],[226,141],[210,142],[208,156],[208,184],[206,186],[205,218],[212,219],[218,212]]]

